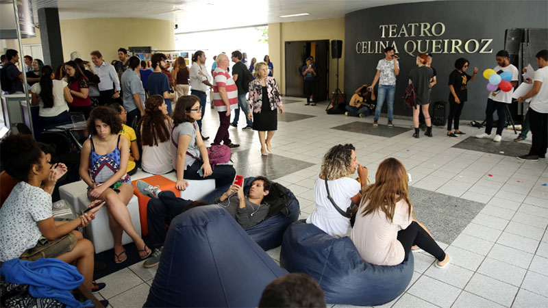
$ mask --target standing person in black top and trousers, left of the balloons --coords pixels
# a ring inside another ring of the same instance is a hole
[[[477,75],[477,67],[474,68],[472,76],[466,74],[469,62],[460,57],[455,61],[455,70],[449,75],[449,118],[447,119],[447,136],[458,137],[464,135],[458,130],[458,122],[460,120],[460,112],[464,102],[468,99],[468,81],[475,79]],[[451,132],[451,124],[454,122],[455,133]]]

